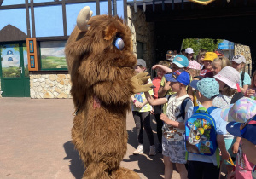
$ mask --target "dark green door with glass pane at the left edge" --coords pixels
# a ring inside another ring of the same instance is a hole
[[[30,97],[26,43],[0,43],[3,97]]]

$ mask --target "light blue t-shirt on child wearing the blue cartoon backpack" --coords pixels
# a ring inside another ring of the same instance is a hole
[[[203,107],[203,106],[199,104],[199,107]],[[211,113],[211,116],[215,120],[216,133],[220,135],[224,135],[227,133],[227,130],[226,130],[227,122],[224,121],[222,118],[220,118],[220,112],[221,112],[220,108],[214,109]],[[216,152],[212,156],[189,153],[188,160],[213,163],[213,165],[217,166]]]

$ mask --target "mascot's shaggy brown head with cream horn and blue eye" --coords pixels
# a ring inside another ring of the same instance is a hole
[[[75,103],[99,82],[131,78],[137,62],[131,48],[131,31],[123,20],[111,15],[91,15],[89,7],[79,12],[77,26],[65,49]]]

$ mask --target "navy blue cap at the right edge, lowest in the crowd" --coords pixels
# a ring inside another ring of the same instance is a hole
[[[230,122],[226,129],[231,135],[245,138],[256,145],[256,116],[248,119],[246,123]]]

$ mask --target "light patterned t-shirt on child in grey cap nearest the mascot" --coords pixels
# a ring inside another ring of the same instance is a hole
[[[151,79],[148,79],[148,83],[151,83]],[[152,89],[149,90],[148,93],[149,95],[154,95],[154,92]],[[133,96],[139,102],[143,102],[146,100],[146,95],[144,94],[144,92],[134,94]],[[152,110],[152,107],[149,103],[145,104],[142,108],[138,108],[138,107],[135,107],[133,102],[131,102],[131,111],[150,112],[151,110]]]

